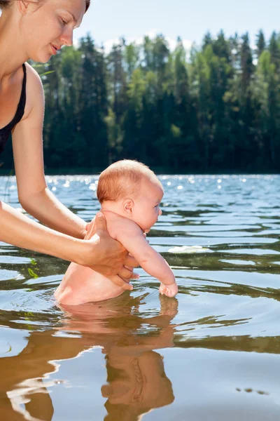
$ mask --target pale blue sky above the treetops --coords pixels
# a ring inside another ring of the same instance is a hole
[[[213,36],[223,29],[226,36],[248,31],[251,44],[262,28],[268,39],[280,32],[280,2],[277,0],[91,0],[74,42],[90,32],[97,46],[111,49],[120,36],[141,42],[163,34],[171,48],[181,36],[186,48],[200,45],[209,30]]]

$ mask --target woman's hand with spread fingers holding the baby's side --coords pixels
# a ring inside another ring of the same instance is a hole
[[[80,264],[91,267],[123,289],[132,290],[129,281],[139,277],[132,272],[133,267],[139,266],[138,262],[128,255],[122,244],[111,238],[102,212],[97,213],[94,222],[86,227],[87,252],[81,256],[83,262]],[[94,265],[92,265],[93,256]]]

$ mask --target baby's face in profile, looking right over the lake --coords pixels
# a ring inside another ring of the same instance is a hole
[[[162,201],[163,189],[160,185],[150,180],[141,182],[139,195],[134,199],[132,219],[141,229],[149,231],[158,217],[162,215],[160,202]]]

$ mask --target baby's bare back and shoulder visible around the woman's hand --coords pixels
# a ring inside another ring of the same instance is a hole
[[[102,210],[107,222],[107,229],[113,239],[118,239],[119,233],[129,229],[130,224],[135,222],[117,215],[116,213]],[[89,227],[90,239],[96,234],[94,219]],[[94,272],[90,267],[80,266],[71,263],[66,270],[57,290],[55,298],[62,304],[78,305],[84,302],[102,301],[118,297],[124,292],[123,288],[117,286],[109,278]]]

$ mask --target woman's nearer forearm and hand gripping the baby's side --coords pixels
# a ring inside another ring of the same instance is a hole
[[[118,286],[132,289],[122,279],[131,277],[123,265],[136,267],[137,262],[111,239],[104,216],[97,218],[97,234],[90,240],[80,240],[44,227],[0,201],[0,241],[91,267]]]

